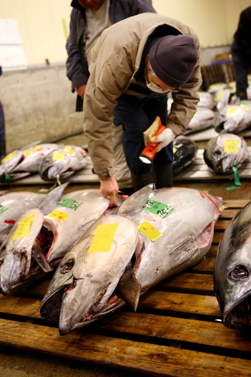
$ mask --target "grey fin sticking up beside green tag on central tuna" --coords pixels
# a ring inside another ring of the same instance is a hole
[[[130,195],[123,203],[118,207],[117,214],[120,216],[134,213],[138,213],[142,210],[143,205],[149,199],[151,192],[155,189],[155,185],[152,183],[148,186],[141,188],[140,190],[134,192]]]

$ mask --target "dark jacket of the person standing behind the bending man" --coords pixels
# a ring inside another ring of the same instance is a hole
[[[66,75],[71,81],[71,90],[86,84],[89,71],[85,57],[85,8],[77,0],[71,2],[73,6],[70,20],[70,34],[66,43],[68,59],[66,61]],[[111,24],[139,13],[154,12],[151,0],[110,0],[109,18]],[[76,111],[83,111],[83,100],[77,96]]]

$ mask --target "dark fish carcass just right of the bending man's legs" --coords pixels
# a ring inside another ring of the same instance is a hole
[[[173,141],[173,175],[183,172],[195,160],[198,144],[187,136],[177,136]]]

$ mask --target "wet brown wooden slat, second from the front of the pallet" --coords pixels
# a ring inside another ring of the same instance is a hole
[[[227,327],[219,331],[220,327],[219,322],[128,312],[116,313],[112,321],[104,319],[100,324],[100,328],[118,333],[144,335],[146,340],[154,337],[251,352],[250,338],[243,338],[242,331],[233,331]]]

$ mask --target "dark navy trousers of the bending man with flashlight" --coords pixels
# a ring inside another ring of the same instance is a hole
[[[115,126],[123,126],[121,141],[125,158],[130,171],[135,175],[146,174],[154,165],[166,165],[173,161],[173,147],[170,143],[167,147],[156,153],[154,162],[145,164],[139,159],[139,155],[145,148],[143,132],[151,126],[158,116],[162,125],[167,122],[167,96],[140,100],[130,95],[122,95],[113,112]]]

